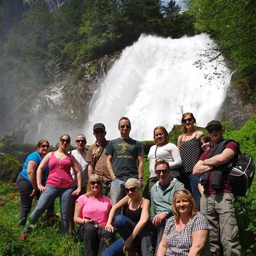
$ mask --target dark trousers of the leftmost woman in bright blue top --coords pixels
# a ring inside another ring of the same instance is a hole
[[[29,212],[32,207],[32,202],[34,197],[30,197],[33,187],[31,184],[28,183],[28,181],[23,176],[18,176],[16,181],[16,186],[19,191],[19,197],[20,197],[20,214],[18,218],[18,225],[24,226],[27,222],[27,218],[29,215]],[[35,196],[38,200],[40,197],[39,190],[36,191]],[[47,209],[47,215],[51,215],[54,212],[54,202],[49,206]]]

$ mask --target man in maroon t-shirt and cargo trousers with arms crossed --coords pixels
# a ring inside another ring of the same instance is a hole
[[[225,143],[220,121],[210,121],[206,130],[214,147],[203,153],[193,174],[202,175],[204,195],[200,205],[202,214],[212,226],[210,250],[212,255],[221,255],[222,244],[225,255],[241,255],[239,230],[234,216],[234,195],[227,175],[227,166],[237,163],[239,145],[234,141]]]

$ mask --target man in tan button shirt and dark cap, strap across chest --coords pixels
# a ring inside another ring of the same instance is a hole
[[[89,147],[86,161],[88,162],[89,177],[95,173],[98,174],[103,183],[102,193],[107,196],[111,187],[111,176],[106,167],[105,149],[109,144],[109,140],[105,139],[106,131],[103,123],[95,123],[93,125],[93,135],[96,142]]]

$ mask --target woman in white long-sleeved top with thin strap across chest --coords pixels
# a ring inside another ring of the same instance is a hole
[[[181,157],[179,148],[169,142],[169,135],[163,126],[154,129],[154,141],[157,143],[150,148],[148,160],[150,161],[150,178],[147,180],[143,197],[151,200],[151,188],[158,181],[155,173],[155,163],[159,160],[168,162],[170,166],[170,176],[179,176],[178,169],[181,167]]]

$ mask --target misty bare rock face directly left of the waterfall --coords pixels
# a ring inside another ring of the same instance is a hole
[[[120,52],[84,63],[69,78],[49,84],[38,95],[25,126],[25,141],[47,138],[56,143],[61,133],[82,133],[90,112],[90,102],[102,79]]]

